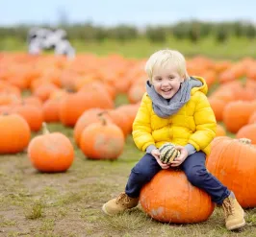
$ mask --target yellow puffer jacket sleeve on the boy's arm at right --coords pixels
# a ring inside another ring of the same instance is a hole
[[[200,151],[212,142],[217,130],[215,113],[203,93],[199,93],[193,119],[196,128],[188,143],[192,144],[196,151]]]

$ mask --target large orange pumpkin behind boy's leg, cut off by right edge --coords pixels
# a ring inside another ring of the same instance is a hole
[[[243,207],[256,206],[256,148],[249,143],[245,138],[216,137],[206,165]]]

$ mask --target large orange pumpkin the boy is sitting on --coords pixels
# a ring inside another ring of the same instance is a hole
[[[141,189],[142,209],[165,223],[199,223],[214,211],[211,197],[193,186],[183,171],[162,170]]]

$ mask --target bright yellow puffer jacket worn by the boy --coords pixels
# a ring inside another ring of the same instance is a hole
[[[203,78],[193,78],[203,85],[193,87],[191,100],[168,118],[156,115],[151,99],[147,93],[143,95],[133,123],[133,138],[141,151],[145,151],[149,145],[159,148],[171,142],[180,146],[190,143],[196,151],[210,153],[210,143],[216,136],[216,117],[206,97],[207,84]]]

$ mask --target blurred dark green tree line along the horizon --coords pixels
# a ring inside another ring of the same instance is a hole
[[[53,29],[47,25],[46,27]],[[0,27],[0,39],[5,37],[15,37],[26,40],[31,26],[19,25],[15,27]],[[173,36],[179,40],[189,39],[197,42],[207,36],[213,36],[218,43],[226,41],[229,37],[246,37],[252,39],[256,36],[256,27],[250,22],[200,22],[184,21],[169,26],[148,26],[139,30],[135,26],[118,25],[112,28],[94,26],[92,23],[84,24],[62,24],[56,28],[66,31],[68,38],[81,41],[104,41],[105,39],[115,39],[118,41],[133,40],[139,37],[146,37],[152,42],[165,42],[167,37]]]

